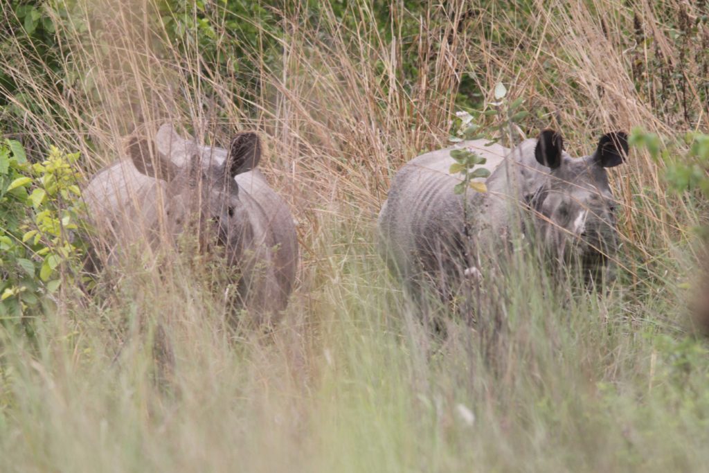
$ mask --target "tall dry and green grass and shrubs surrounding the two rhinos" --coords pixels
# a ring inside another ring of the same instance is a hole
[[[198,257],[81,273],[80,187],[164,121],[267,141],[303,253],[269,330],[225,325]],[[618,281],[577,291],[515,252],[441,338],[376,255],[389,179],[545,127],[572,155],[632,130]],[[1,471],[709,461],[707,1],[9,0],[0,132]]]

